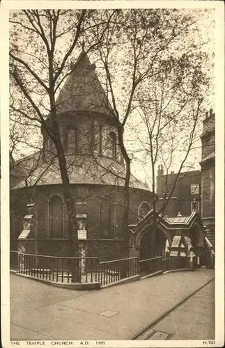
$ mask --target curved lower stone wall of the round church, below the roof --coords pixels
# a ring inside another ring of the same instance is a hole
[[[87,256],[98,256],[100,260],[114,260],[121,258],[123,247],[123,187],[109,187],[104,185],[91,184],[74,184],[71,185],[72,194],[77,202],[77,214],[86,214],[86,230],[87,240],[84,241]],[[65,203],[63,203],[63,234],[61,238],[55,239],[54,235],[49,238],[49,200],[52,196],[60,196],[63,200],[62,186],[46,185],[36,187],[35,193],[32,188],[17,189],[12,191],[11,205],[14,206],[15,215],[15,232],[11,230],[10,249],[17,250],[17,238],[22,232],[22,219],[26,212],[26,205],[30,203],[31,196],[33,202],[36,203],[36,219],[35,219],[35,235],[31,239],[27,239],[27,252],[35,250],[40,255],[58,255],[68,256],[70,250],[70,239],[68,235]],[[18,200],[18,198],[20,199]],[[107,221],[109,221],[109,212],[106,207],[111,200],[112,207],[116,207],[116,221],[114,214],[111,216],[111,235],[107,234]],[[138,222],[138,207],[143,201],[150,203],[151,193],[140,189],[130,189],[130,216],[129,223]],[[14,203],[13,203],[14,202]],[[79,203],[79,205],[78,205]],[[85,204],[82,204],[85,203]],[[100,221],[100,203],[102,207],[102,216]],[[12,216],[11,216],[12,218]],[[106,230],[100,228],[100,224],[105,226]],[[32,243],[35,244],[33,249]],[[32,251],[33,252],[33,251]]]

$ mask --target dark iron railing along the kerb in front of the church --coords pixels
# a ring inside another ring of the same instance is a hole
[[[56,283],[96,283],[101,286],[157,271],[191,268],[188,258],[161,256],[147,260],[126,258],[99,262],[98,258],[65,258],[10,251],[10,269],[18,274]]]

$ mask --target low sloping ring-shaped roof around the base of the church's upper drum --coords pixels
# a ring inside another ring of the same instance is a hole
[[[106,184],[124,186],[125,166],[107,157],[93,157],[91,155],[76,155],[67,157],[70,184]],[[59,164],[55,160],[50,166],[42,162],[26,179],[26,184],[32,186],[61,184]],[[13,189],[25,186],[24,178]],[[133,175],[130,177],[130,187],[148,190],[146,184],[140,182]]]

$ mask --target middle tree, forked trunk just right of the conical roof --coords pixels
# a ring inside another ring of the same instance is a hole
[[[101,15],[103,14],[101,13]],[[104,15],[109,16],[109,13],[106,12]],[[93,28],[93,32],[99,38],[100,33],[97,26]],[[166,96],[163,95],[163,99],[165,103],[168,103],[171,99],[169,107],[175,103],[173,101],[175,94],[178,94],[178,90],[180,92],[181,85],[185,86],[185,78],[187,78],[187,71],[184,73],[183,70],[188,69],[187,65],[196,54],[199,54],[201,45],[203,45],[201,40],[198,42],[198,47],[193,43],[192,35],[197,32],[196,17],[193,12],[188,10],[118,10],[115,21],[107,27],[100,45],[96,47],[98,56],[100,56],[100,67],[102,68],[100,74],[102,74],[102,81],[113,106],[112,116],[115,119],[118,131],[118,145],[126,166],[123,217],[124,255],[127,252],[129,238],[127,221],[130,207],[129,182],[132,161],[132,155],[127,150],[127,143],[125,142],[125,131],[127,128],[129,129],[133,116],[139,112],[140,105],[138,106],[137,100],[141,100],[141,107],[147,109],[149,100],[146,100],[148,99],[146,94],[148,90],[153,88],[155,81],[160,81],[163,76],[168,84],[173,73],[176,74],[176,77],[172,79],[169,87],[167,87],[169,91],[167,91]],[[198,63],[201,65],[200,58]],[[189,84],[191,83],[189,82]],[[195,79],[194,84],[196,84],[194,88],[196,90],[202,84],[202,81]],[[157,96],[157,93],[159,91],[155,90],[155,98],[158,103],[160,102],[160,96]],[[188,93],[192,93],[192,90],[189,89]],[[180,95],[180,103],[181,99]],[[179,106],[181,113],[182,104],[179,104]],[[173,112],[175,111],[173,110]],[[159,112],[157,111],[158,117]],[[175,116],[170,117],[174,118],[174,124]],[[196,116],[193,117],[196,118]],[[148,118],[148,115],[146,115],[146,118]],[[168,122],[168,125],[171,125],[169,116],[165,116],[162,111],[160,111],[160,118],[164,119],[163,124]],[[148,128],[148,122],[145,126]],[[158,127],[159,132],[162,132],[162,123]],[[150,128],[148,129],[148,136],[152,141],[153,132]],[[160,149],[153,155],[153,166],[155,166],[159,151]],[[153,187],[155,187],[154,173],[153,181]],[[153,201],[155,202],[155,198]],[[153,205],[155,206],[155,203]]]

